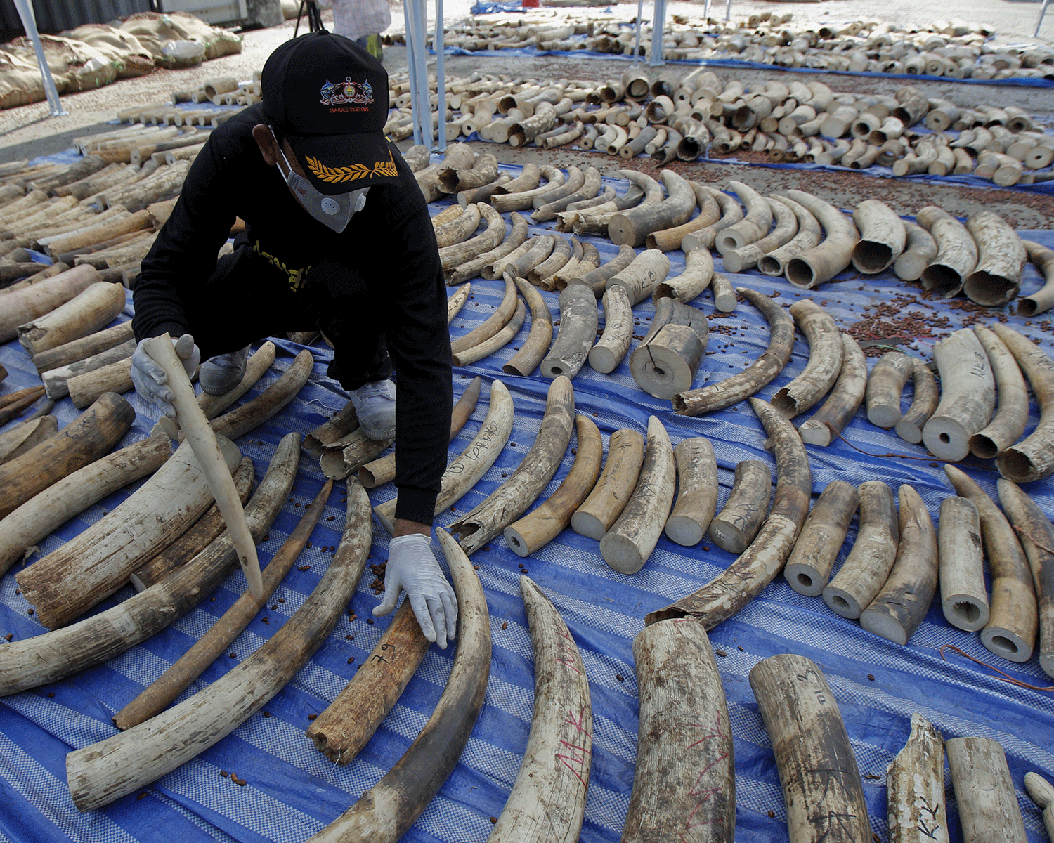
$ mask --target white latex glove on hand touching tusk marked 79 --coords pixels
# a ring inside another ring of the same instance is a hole
[[[399,591],[406,591],[425,638],[445,650],[447,640],[453,641],[457,632],[457,597],[435,561],[431,537],[424,533],[392,538],[385,567],[385,596],[373,614],[380,616],[394,609]]]

